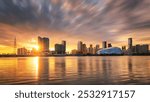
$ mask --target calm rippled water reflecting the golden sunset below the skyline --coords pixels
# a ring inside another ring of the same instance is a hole
[[[0,84],[150,84],[150,56],[0,58]]]

